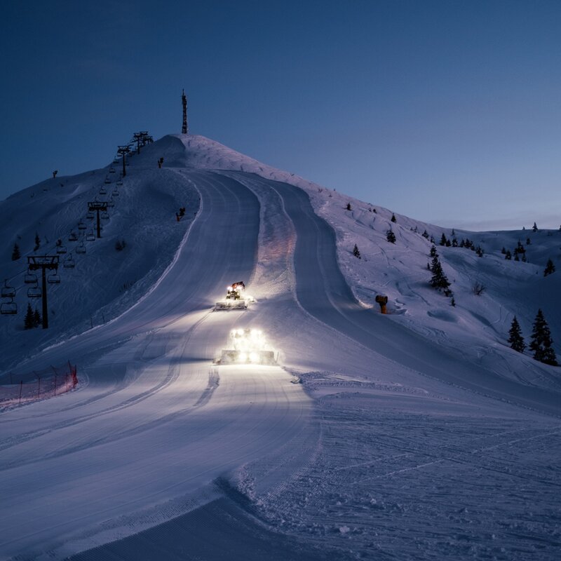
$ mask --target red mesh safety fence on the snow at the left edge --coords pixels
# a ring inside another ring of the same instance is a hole
[[[76,365],[70,361],[59,367],[50,366],[25,374],[10,372],[0,381],[0,407],[58,396],[74,389],[76,384]]]

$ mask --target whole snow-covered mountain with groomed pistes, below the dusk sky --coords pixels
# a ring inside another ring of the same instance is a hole
[[[507,339],[542,309],[561,355],[561,231],[442,229],[195,135],[128,161],[0,203],[2,381],[79,370],[4,402],[2,558],[555,558],[561,369]],[[90,241],[93,201],[111,206]],[[45,254],[50,326],[24,330]],[[237,280],[257,302],[212,312]],[[279,365],[213,365],[234,327]]]

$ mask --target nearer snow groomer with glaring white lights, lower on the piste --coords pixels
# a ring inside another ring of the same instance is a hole
[[[267,344],[259,329],[233,329],[230,332],[230,348],[223,349],[215,364],[276,365],[278,353]]]

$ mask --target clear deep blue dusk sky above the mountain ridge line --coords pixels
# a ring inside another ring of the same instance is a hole
[[[561,224],[561,1],[38,1],[0,23],[0,198],[181,130],[394,212]]]

